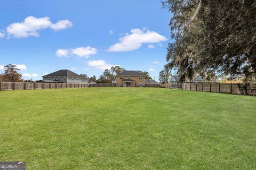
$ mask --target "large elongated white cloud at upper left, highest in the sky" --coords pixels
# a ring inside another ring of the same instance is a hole
[[[39,37],[39,30],[46,28],[61,30],[71,26],[72,23],[68,20],[61,20],[54,24],[47,16],[43,18],[28,16],[23,22],[16,22],[10,24],[6,28],[6,32],[9,36],[13,36],[15,38],[26,38],[29,36]]]

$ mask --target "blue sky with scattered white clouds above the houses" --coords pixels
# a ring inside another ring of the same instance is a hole
[[[98,78],[103,69],[121,65],[158,80],[171,40],[170,18],[154,0],[2,0],[0,72],[17,64],[24,79],[60,69]]]

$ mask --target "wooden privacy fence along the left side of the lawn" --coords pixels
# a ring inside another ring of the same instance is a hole
[[[0,82],[0,90],[87,88],[90,84],[79,83],[6,83]]]

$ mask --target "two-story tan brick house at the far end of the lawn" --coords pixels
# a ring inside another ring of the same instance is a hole
[[[145,75],[137,71],[124,71],[116,75],[116,87],[143,87]]]

